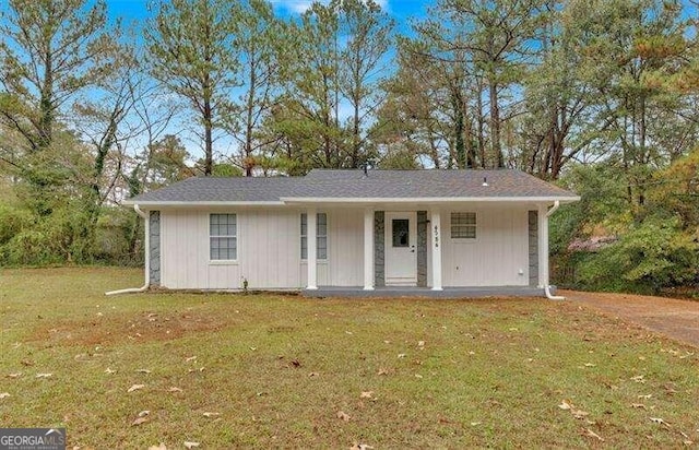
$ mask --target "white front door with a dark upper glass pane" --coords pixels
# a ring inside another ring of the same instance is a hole
[[[386,213],[386,285],[417,285],[417,213]]]

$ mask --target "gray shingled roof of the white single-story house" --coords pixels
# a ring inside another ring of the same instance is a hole
[[[484,179],[488,186],[483,186]],[[546,198],[576,194],[519,170],[330,170],[306,177],[189,178],[129,203],[264,202],[294,199]]]

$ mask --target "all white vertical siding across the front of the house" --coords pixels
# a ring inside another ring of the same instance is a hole
[[[364,283],[364,213],[360,209],[319,210],[328,214],[328,260],[318,263],[320,286]],[[528,213],[523,208],[466,208],[477,213],[477,238],[451,239],[450,213],[442,211],[445,286],[505,286],[529,283]],[[209,214],[237,214],[238,260],[209,261]],[[238,289],[305,287],[298,209],[236,209],[161,212],[162,285],[169,288]],[[431,239],[431,233],[429,234]],[[431,257],[428,251],[428,284]],[[522,271],[522,274],[519,271]]]

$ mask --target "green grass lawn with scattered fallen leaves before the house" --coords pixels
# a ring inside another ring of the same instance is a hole
[[[0,426],[69,448],[699,442],[696,350],[572,303],[103,294],[141,281],[0,272]]]

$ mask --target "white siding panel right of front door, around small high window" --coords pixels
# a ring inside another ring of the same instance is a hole
[[[465,208],[454,211],[476,212],[476,239],[473,241],[451,239],[451,211],[442,212],[445,286],[528,285],[526,210]]]

